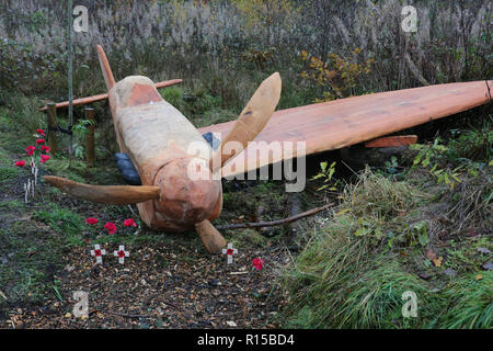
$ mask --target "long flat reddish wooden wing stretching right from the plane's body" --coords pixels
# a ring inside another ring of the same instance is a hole
[[[283,152],[259,152],[261,144],[250,144],[226,163],[222,177],[233,177],[296,157],[297,141],[306,143],[306,155],[318,154],[371,140],[485,104],[491,101],[492,83],[472,81],[429,86],[277,111],[254,141],[265,141],[267,145],[279,143]],[[234,122],[210,125],[199,128],[199,132],[220,133],[223,137]],[[284,141],[295,143],[294,154],[285,150]]]

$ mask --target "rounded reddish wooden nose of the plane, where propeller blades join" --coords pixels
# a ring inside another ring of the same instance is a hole
[[[213,180],[207,162],[176,159],[163,167],[154,184],[161,188],[160,213],[170,220],[193,225],[208,217],[220,194],[220,180]]]

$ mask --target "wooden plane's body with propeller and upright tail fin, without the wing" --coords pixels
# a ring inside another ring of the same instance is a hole
[[[207,251],[219,252],[226,240],[210,224],[222,208],[220,178],[211,177],[217,169],[208,170],[210,177],[204,180],[192,180],[187,174],[190,163],[196,161],[195,156],[187,154],[190,144],[203,144],[210,149],[209,144],[180,111],[161,98],[149,78],[133,76],[115,83],[101,46],[98,54],[121,152],[130,157],[142,185],[102,186],[51,176],[44,179],[88,201],[137,204],[142,220],[154,229],[185,231],[195,227]],[[279,98],[280,77],[276,72],[259,87],[222,143],[251,141],[272,116]],[[220,158],[220,167],[231,156],[215,157]]]

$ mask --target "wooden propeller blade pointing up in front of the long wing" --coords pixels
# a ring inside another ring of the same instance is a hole
[[[223,146],[229,141],[238,141],[243,145],[244,149],[262,132],[279,102],[280,87],[282,80],[278,72],[273,73],[260,84],[231,131],[222,139],[221,147],[210,159],[209,167],[213,173],[234,156],[234,152],[222,154]]]

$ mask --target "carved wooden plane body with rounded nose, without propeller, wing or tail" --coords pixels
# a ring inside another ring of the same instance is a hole
[[[190,151],[191,143],[210,150],[192,123],[146,77],[123,79],[108,99],[121,151],[130,157],[142,185],[161,189],[160,200],[137,204],[142,220],[153,229],[184,231],[217,218],[222,205],[220,180],[211,176],[193,180],[188,173],[191,162],[199,158]]]

